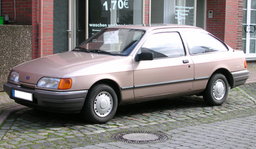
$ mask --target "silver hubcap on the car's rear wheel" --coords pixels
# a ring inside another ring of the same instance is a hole
[[[216,98],[216,100],[221,100],[226,93],[225,82],[222,81],[221,79],[218,79],[216,82],[214,82],[212,93],[214,98]]]

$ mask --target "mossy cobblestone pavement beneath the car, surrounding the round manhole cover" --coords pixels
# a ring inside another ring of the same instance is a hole
[[[252,83],[230,90],[222,106],[207,106],[196,96],[120,106],[101,125],[86,123],[80,114],[26,108],[1,125],[0,148],[256,148],[255,88]],[[131,130],[163,132],[170,139],[143,144],[109,139]]]

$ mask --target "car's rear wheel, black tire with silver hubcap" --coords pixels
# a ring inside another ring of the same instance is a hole
[[[211,76],[205,90],[204,100],[210,106],[220,106],[228,96],[228,81],[223,74]]]

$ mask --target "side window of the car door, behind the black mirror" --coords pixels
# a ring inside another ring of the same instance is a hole
[[[141,52],[152,52],[154,59],[184,56],[184,46],[179,33],[157,33],[147,38]]]

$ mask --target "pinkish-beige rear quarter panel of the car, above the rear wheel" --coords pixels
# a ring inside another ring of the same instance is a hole
[[[220,68],[224,68],[229,72],[245,70],[243,51],[225,51],[198,54],[191,56],[195,65],[195,82],[193,90],[204,90],[209,78],[214,72]],[[208,79],[200,79],[206,78]]]

